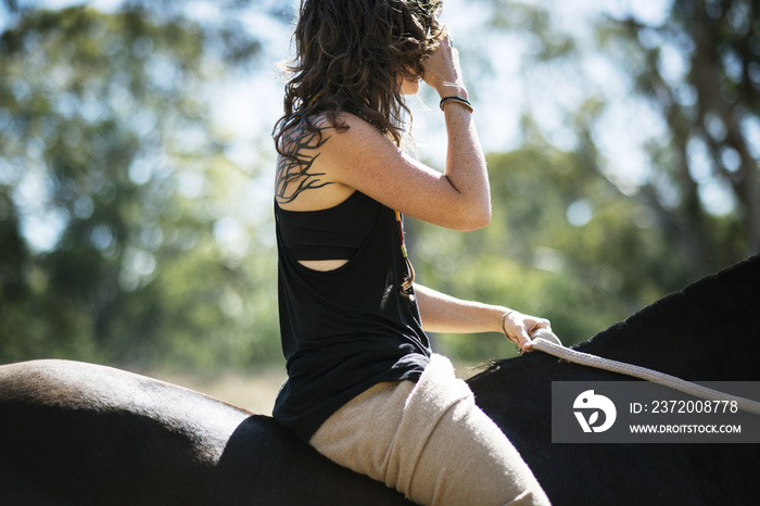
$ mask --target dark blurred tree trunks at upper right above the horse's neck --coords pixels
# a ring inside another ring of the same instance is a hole
[[[674,0],[662,24],[600,34],[668,125],[641,191],[673,248],[701,271],[759,252],[760,2]]]

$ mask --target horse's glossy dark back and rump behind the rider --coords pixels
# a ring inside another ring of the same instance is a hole
[[[408,504],[270,417],[91,364],[0,366],[0,433],[5,504]]]

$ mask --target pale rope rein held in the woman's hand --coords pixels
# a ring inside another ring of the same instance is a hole
[[[675,376],[666,375],[656,370],[647,369],[646,367],[634,366],[633,364],[625,364],[624,362],[612,360],[610,358],[604,358],[596,355],[590,355],[588,353],[579,352],[578,350],[572,350],[570,347],[563,346],[559,339],[546,329],[536,330],[532,338],[532,345],[534,350],[541,350],[544,353],[554,355],[567,362],[572,362],[574,364],[581,364],[588,367],[594,367],[597,369],[609,370],[611,372],[619,372],[621,375],[632,376],[634,378],[643,379],[646,381],[651,381],[653,383],[662,384],[664,387],[677,390],[680,392],[694,395],[695,397],[700,397],[709,401],[729,401],[736,402],[739,409],[748,413],[753,413],[760,415],[760,402],[751,401],[749,399],[738,397],[736,395],[731,395],[718,390],[708,389],[697,383],[691,381],[682,380]]]

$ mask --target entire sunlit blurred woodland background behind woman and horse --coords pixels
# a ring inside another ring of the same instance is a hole
[[[281,380],[270,131],[296,11],[1,3],[0,363]],[[421,282],[546,316],[573,343],[760,251],[755,3],[451,0],[442,20],[494,219],[409,219]],[[411,135],[440,167],[433,94],[410,100]],[[463,365],[514,353],[499,336],[433,341]]]

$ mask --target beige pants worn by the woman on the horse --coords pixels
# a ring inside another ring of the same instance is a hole
[[[353,399],[309,443],[419,504],[549,504],[515,446],[440,355],[417,383],[379,383]]]

